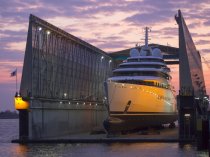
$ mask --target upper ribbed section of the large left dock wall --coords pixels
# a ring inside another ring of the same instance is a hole
[[[30,15],[20,93],[56,100],[103,100],[112,58],[87,42]]]

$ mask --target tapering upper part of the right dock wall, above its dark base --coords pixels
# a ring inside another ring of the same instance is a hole
[[[175,16],[179,25],[179,80],[181,93],[206,94],[202,62],[181,11]]]

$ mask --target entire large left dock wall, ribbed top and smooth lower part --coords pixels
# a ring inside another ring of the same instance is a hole
[[[112,66],[104,51],[30,15],[20,86],[21,97],[29,102],[24,112],[28,125],[23,124],[28,131],[20,138],[62,136],[102,126],[107,117],[103,84]]]

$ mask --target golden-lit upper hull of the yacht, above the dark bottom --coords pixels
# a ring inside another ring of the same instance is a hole
[[[176,112],[176,100],[170,89],[107,82],[110,112]],[[128,102],[130,105],[128,106]]]

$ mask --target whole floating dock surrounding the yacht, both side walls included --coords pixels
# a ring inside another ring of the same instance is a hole
[[[197,139],[202,145],[205,143],[204,134],[209,132],[209,116],[201,57],[181,11],[175,19],[179,26],[179,48],[152,44],[163,51],[167,64],[179,64],[179,138],[172,141]],[[73,133],[101,128],[108,115],[103,83],[111,75],[112,69],[128,57],[129,50],[108,54],[30,15],[20,86],[21,98],[29,105],[25,109],[18,109],[19,141],[42,142],[42,139],[59,139]],[[77,140],[64,140],[68,141]],[[94,141],[117,140],[103,138]],[[129,139],[118,141],[126,142]]]

